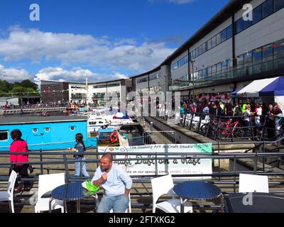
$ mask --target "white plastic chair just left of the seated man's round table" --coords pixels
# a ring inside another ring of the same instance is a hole
[[[49,211],[49,198],[41,198],[46,192],[50,192],[56,187],[65,184],[65,173],[55,173],[52,175],[39,175],[38,176],[38,201],[35,204],[35,213],[40,211]],[[64,205],[62,200],[53,199],[51,201],[51,209],[61,209],[64,213]]]

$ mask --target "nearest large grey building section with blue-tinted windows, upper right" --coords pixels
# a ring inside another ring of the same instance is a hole
[[[244,4],[253,21],[244,21]],[[284,74],[284,1],[230,1],[166,61],[170,91],[228,94]]]

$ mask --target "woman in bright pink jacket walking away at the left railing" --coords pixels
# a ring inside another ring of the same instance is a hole
[[[11,170],[14,170],[21,177],[28,177],[28,164],[18,162],[28,162],[28,144],[21,138],[22,133],[18,129],[11,131],[13,143],[10,146],[10,152],[21,153],[19,155],[10,155]],[[23,182],[23,189],[29,191],[31,189],[30,182]],[[18,182],[15,182],[14,192],[20,192],[21,188]]]

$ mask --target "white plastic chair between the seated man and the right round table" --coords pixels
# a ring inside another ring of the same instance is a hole
[[[171,175],[163,177],[156,177],[151,179],[152,193],[153,193],[153,213],[155,209],[160,209],[166,213],[180,213],[180,199],[175,199],[175,192],[173,192],[173,178]],[[160,196],[168,194],[172,199],[162,201],[157,204]],[[192,204],[185,203],[185,213],[192,213]]]

